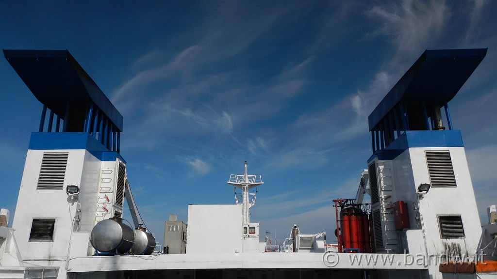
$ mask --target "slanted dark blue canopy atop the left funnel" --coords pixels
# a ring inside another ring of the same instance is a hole
[[[65,126],[66,104],[93,103],[123,131],[121,114],[67,50],[3,50],[3,55],[35,97],[65,120]]]

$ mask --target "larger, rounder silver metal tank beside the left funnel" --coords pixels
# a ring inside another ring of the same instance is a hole
[[[98,252],[126,254],[134,243],[133,229],[112,217],[97,223],[91,230],[90,243]]]

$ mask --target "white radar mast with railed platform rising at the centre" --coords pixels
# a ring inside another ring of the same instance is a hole
[[[248,191],[254,187],[264,184],[264,182],[262,182],[260,174],[248,175],[247,161],[245,161],[245,173],[230,175],[230,180],[227,183],[235,186],[235,202],[237,203],[237,205],[243,206],[243,223],[250,223],[250,213],[248,210],[253,205],[255,205],[255,197],[257,195],[257,191],[255,191],[255,193],[249,193]],[[240,193],[237,193],[237,188],[242,189],[241,196],[238,196]]]

